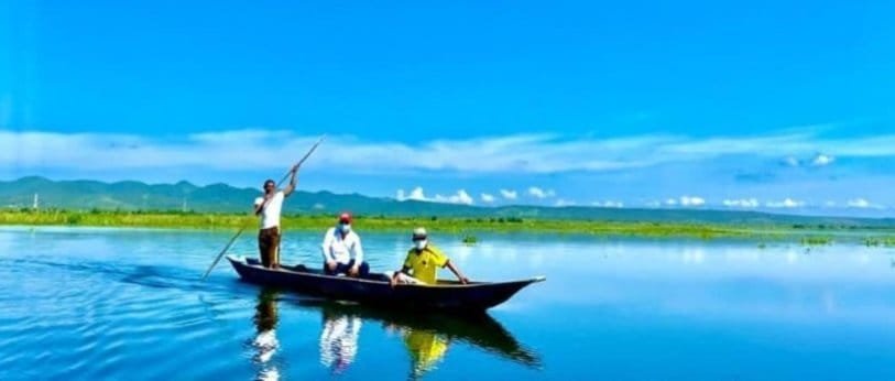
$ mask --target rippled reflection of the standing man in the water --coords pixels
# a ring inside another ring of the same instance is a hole
[[[255,314],[252,318],[255,326],[255,336],[251,342],[254,351],[252,362],[259,368],[255,378],[258,380],[280,379],[276,363],[271,361],[280,348],[280,341],[276,339],[277,296],[279,292],[271,289],[262,289],[258,294]]]

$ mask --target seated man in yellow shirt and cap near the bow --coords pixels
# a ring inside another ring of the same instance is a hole
[[[436,284],[438,269],[448,268],[457,275],[460,283],[467,284],[469,280],[460,273],[454,263],[434,244],[429,243],[425,228],[413,230],[413,248],[407,252],[404,266],[390,276],[390,283]]]

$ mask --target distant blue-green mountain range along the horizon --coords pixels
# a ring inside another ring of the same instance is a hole
[[[51,181],[22,177],[0,182],[0,207],[39,207],[102,210],[193,210],[198,213],[248,211],[260,189],[238,188],[227,184],[197,186],[188,182],[145,184],[141,182],[102,183],[96,181]],[[437,216],[468,218],[542,218],[615,221],[692,221],[721,224],[804,224],[837,226],[895,226],[895,219],[849,217],[807,217],[757,211],[709,209],[634,209],[600,207],[503,206],[477,207],[392,198],[359,194],[296,190],[284,205],[287,214],[336,214],[350,210],[374,216]]]

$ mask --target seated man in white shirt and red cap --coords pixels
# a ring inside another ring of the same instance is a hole
[[[351,230],[351,215],[343,213],[339,224],[329,228],[320,246],[324,254],[324,272],[327,275],[347,274],[367,276],[370,265],[363,261],[360,237]]]

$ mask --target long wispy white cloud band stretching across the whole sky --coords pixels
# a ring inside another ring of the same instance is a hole
[[[120,133],[59,133],[0,130],[0,167],[105,171],[196,167],[271,170],[283,157],[301,157],[316,137],[283,130],[232,130],[153,138]],[[426,155],[417,155],[424,150]],[[785,157],[814,155],[812,165],[837,156],[895,156],[895,134],[825,139],[816,132],[757,137],[689,138],[634,135],[614,139],[516,134],[401,142],[330,137],[310,163],[363,173],[457,171],[465,173],[605,172],[724,155]],[[325,154],[324,152],[339,152]],[[233,154],[239,152],[239,154]],[[823,154],[816,154],[825,152]],[[406,160],[414,157],[414,160]]]

